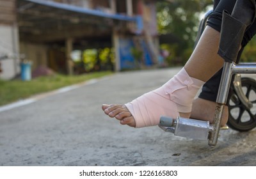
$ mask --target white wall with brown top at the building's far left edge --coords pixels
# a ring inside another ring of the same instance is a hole
[[[19,74],[19,33],[15,0],[0,0],[0,77]]]

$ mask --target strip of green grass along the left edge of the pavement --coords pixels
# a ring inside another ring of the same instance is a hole
[[[95,72],[84,75],[52,75],[47,77],[37,77],[31,81],[3,81],[0,79],[0,105],[9,104],[17,100],[28,98],[31,95],[52,91],[64,86],[77,84],[110,75],[112,72]]]

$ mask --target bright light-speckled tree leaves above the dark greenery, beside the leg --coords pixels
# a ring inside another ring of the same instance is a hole
[[[173,33],[180,40],[195,40],[200,15],[212,6],[211,0],[175,0],[173,3],[157,3],[159,33]],[[191,44],[189,44],[191,45]]]

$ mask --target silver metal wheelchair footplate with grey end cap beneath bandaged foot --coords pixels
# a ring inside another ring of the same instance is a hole
[[[172,132],[175,136],[198,140],[208,140],[213,127],[209,121],[193,120],[188,118],[177,119],[161,116],[159,127],[165,132]]]

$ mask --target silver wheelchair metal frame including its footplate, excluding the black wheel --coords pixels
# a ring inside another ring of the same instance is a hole
[[[195,46],[198,43],[200,36],[204,32],[207,19],[211,13],[212,10],[205,13],[204,18],[200,22]],[[193,139],[208,139],[209,146],[216,146],[220,133],[221,116],[223,114],[224,106],[227,104],[228,91],[233,75],[234,90],[236,91],[237,97],[247,109],[253,107],[253,104],[243,93],[241,74],[256,74],[256,63],[236,64],[234,62],[224,62],[212,125],[209,124],[209,121],[206,122],[186,118],[173,119],[161,116],[159,127],[161,127],[164,131],[172,132],[177,136],[191,137]]]

